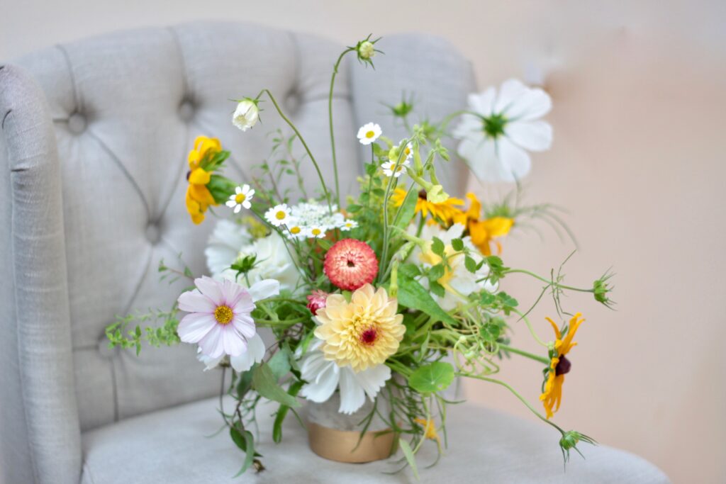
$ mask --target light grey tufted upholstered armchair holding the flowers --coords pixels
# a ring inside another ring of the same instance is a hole
[[[335,88],[343,194],[367,151],[356,128],[391,126],[380,102],[415,92],[439,118],[475,89],[470,64],[438,38],[384,39],[375,73],[350,62]],[[285,129],[268,108],[241,134],[229,99],[267,87],[330,175],[327,89],[340,46],[256,25],[197,22],[54,46],[0,67],[0,480],[6,484],[232,482],[241,455],[219,428],[219,380],[190,345],[110,350],[104,328],[137,309],[167,308],[183,282],[159,284],[160,259],[195,274],[213,221],[184,210],[186,157],[199,134],[232,150],[248,179]],[[312,172],[311,172],[312,173]],[[451,171],[450,173],[464,173]],[[313,176],[306,182],[317,184]],[[447,183],[462,188],[462,179]],[[390,464],[325,462],[287,422],[273,448],[258,413],[269,470],[243,482],[399,482]],[[293,419],[289,419],[293,420]],[[452,411],[449,456],[424,480],[666,482],[656,467],[611,448],[563,474],[556,435],[476,406]],[[386,467],[388,466],[388,467]],[[362,472],[362,469],[366,469]]]

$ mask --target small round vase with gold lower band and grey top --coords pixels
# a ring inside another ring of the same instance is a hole
[[[385,404],[378,398],[378,409]],[[307,424],[310,448],[324,459],[336,462],[363,463],[387,459],[393,449],[393,432],[375,415],[361,438],[359,424],[373,409],[366,403],[354,414],[338,412],[340,397],[335,393],[324,403],[308,402]],[[384,415],[386,413],[383,413]]]

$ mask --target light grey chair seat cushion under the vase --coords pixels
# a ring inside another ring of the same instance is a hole
[[[271,414],[257,411],[258,451],[266,470],[232,479],[244,455],[221,427],[219,400],[211,398],[133,417],[83,434],[83,484],[211,483],[407,483],[410,469],[397,459],[370,464],[340,464],[313,454],[306,432],[290,414],[282,443],[272,443]],[[227,408],[227,407],[225,407]],[[449,448],[438,464],[432,442],[418,454],[423,483],[668,483],[653,464],[606,446],[582,446],[567,469],[558,433],[535,422],[475,406],[449,407]],[[254,430],[253,430],[254,432]]]

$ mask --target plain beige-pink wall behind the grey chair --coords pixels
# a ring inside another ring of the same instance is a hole
[[[618,311],[568,298],[587,323],[557,415],[602,443],[641,454],[677,483],[726,480],[726,15],[722,1],[162,1],[0,0],[0,59],[47,44],[196,18],[250,20],[341,43],[421,30],[473,60],[482,87],[544,80],[554,99],[552,151],[534,158],[532,202],[568,208],[581,250],[566,271],[589,284],[618,273]],[[547,271],[572,249],[547,232],[505,245],[513,266]],[[534,297],[538,285],[506,281]],[[520,298],[524,303],[526,298]],[[549,337],[543,304],[534,312]],[[518,341],[526,332],[516,327]],[[531,346],[528,346],[531,348]],[[531,348],[535,349],[535,348]],[[502,376],[536,401],[539,365]],[[476,401],[526,412],[499,388]],[[486,436],[483,436],[486,439]],[[554,443],[553,443],[554,445]]]

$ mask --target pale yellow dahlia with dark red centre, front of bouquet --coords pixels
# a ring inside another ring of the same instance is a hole
[[[329,295],[325,308],[317,311],[320,325],[315,329],[325,359],[350,365],[356,373],[382,364],[396,353],[406,332],[397,309],[396,298],[370,284],[353,292],[350,303],[343,295]]]

